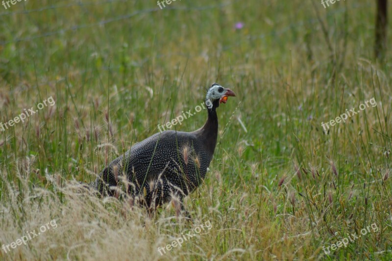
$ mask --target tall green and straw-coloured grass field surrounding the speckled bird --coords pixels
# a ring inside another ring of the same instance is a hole
[[[392,53],[374,59],[374,22],[365,0],[0,5],[0,122],[36,110],[0,127],[0,260],[391,260]],[[81,188],[213,82],[237,97],[193,222]]]

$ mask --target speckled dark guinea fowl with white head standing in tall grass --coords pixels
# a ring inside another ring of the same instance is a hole
[[[205,104],[208,118],[192,132],[165,130],[136,143],[123,156],[113,160],[93,183],[100,194],[116,195],[119,176],[126,175],[127,192],[139,203],[154,210],[157,206],[179,201],[201,184],[214,155],[218,136],[216,108],[236,96],[218,83],[208,89]]]

